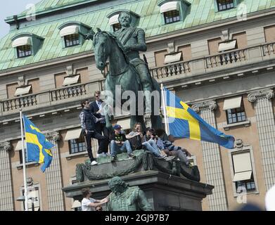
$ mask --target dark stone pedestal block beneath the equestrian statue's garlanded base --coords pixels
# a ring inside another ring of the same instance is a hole
[[[202,210],[201,201],[212,194],[214,186],[191,181],[180,176],[156,170],[135,172],[122,176],[129,186],[139,186],[151,203],[154,211]],[[82,200],[82,188],[90,188],[92,198],[102,199],[109,195],[109,179],[84,181],[63,188],[66,197]],[[103,207],[103,210],[105,208]]]

